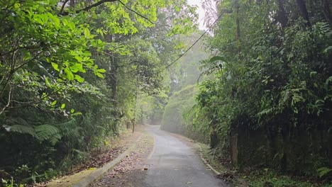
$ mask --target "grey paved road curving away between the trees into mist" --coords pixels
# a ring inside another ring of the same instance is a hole
[[[177,137],[160,130],[160,126],[148,128],[155,137],[155,150],[147,160],[150,169],[145,176],[146,187],[214,187],[225,186],[207,170],[191,147]]]

